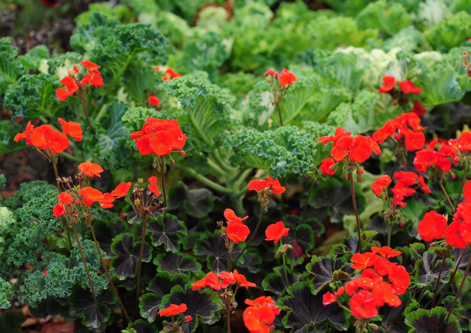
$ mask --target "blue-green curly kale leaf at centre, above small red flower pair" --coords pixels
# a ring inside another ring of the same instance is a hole
[[[289,171],[306,174],[314,166],[316,144],[305,130],[295,126],[264,132],[242,129],[224,141],[225,147],[234,151],[231,159],[235,165],[268,169],[274,177],[284,177]]]

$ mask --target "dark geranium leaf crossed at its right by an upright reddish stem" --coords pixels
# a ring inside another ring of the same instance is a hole
[[[135,242],[134,235],[130,232],[121,233],[114,238],[111,244],[111,252],[114,254],[111,265],[120,280],[136,276],[140,246],[141,241]],[[142,261],[150,262],[151,258],[150,246],[145,243]]]

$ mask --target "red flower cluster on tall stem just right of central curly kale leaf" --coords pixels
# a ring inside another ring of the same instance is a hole
[[[376,155],[381,154],[380,147],[370,136],[351,136],[351,132],[345,132],[343,127],[337,127],[334,135],[321,136],[317,141],[324,145],[330,141],[333,142],[331,154],[337,162],[347,159],[347,162],[362,163],[371,156],[373,151]]]

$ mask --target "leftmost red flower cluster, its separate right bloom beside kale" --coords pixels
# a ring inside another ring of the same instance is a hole
[[[58,118],[58,120],[62,125],[62,133],[56,131],[49,125],[34,127],[34,125],[31,125],[31,121],[28,121],[24,132],[15,135],[13,140],[19,142],[25,139],[26,144],[41,150],[46,150],[48,158],[53,159],[54,154],[58,154],[69,148],[70,143],[67,135],[72,136],[76,141],[82,140],[81,124],[74,121],[67,122],[62,118]]]

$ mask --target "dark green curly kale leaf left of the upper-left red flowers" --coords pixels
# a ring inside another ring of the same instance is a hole
[[[56,97],[57,87],[59,80],[55,75],[25,74],[8,87],[4,107],[10,108],[12,119],[33,119],[41,116],[56,118],[60,109],[74,102],[73,98],[59,102]]]

